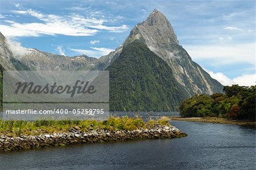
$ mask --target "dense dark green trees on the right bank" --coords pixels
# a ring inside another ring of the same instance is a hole
[[[184,117],[219,117],[255,120],[256,86],[224,86],[224,93],[197,94],[180,105]]]

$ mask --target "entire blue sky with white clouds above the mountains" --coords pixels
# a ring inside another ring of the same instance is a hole
[[[26,48],[100,57],[154,9],[210,76],[255,83],[255,1],[0,1],[0,31]]]

